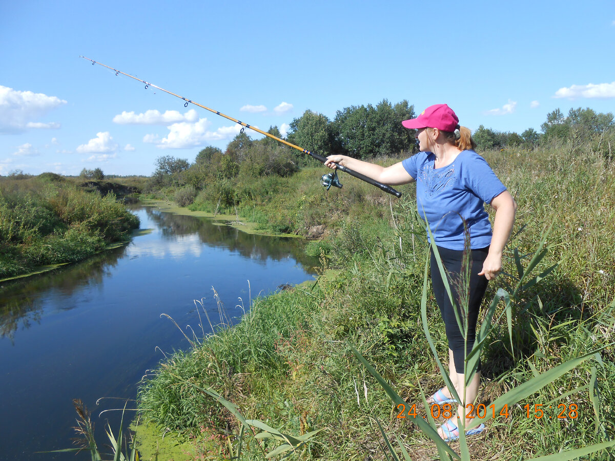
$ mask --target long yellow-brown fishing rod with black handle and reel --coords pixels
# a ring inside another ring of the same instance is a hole
[[[253,127],[252,125],[248,125],[247,123],[241,122],[240,120],[234,119],[233,117],[229,117],[228,115],[225,115],[222,112],[219,112],[219,111],[216,111],[214,109],[210,109],[208,107],[202,106],[201,104],[195,103],[194,101],[189,100],[189,99],[187,99],[187,98],[185,98],[183,96],[177,95],[177,94],[175,94],[173,92],[170,92],[169,90],[165,90],[164,88],[161,88],[161,87],[159,87],[157,85],[154,85],[154,84],[151,84],[149,82],[146,82],[145,80],[141,80],[141,79],[139,79],[139,78],[137,78],[135,76],[132,76],[130,74],[126,74],[126,73],[124,73],[122,71],[114,69],[113,67],[106,66],[103,63],[99,63],[98,61],[95,61],[93,59],[86,58],[85,56],[79,56],[79,57],[80,58],[84,58],[85,60],[90,61],[92,63],[92,65],[98,64],[98,65],[101,65],[103,67],[106,67],[107,69],[111,69],[112,71],[114,71],[114,73],[116,73],[116,75],[122,74],[122,75],[125,75],[127,77],[130,77],[131,79],[135,79],[135,80],[145,84],[145,89],[148,89],[148,87],[153,87],[153,88],[161,90],[161,91],[163,91],[165,93],[169,93],[170,95],[175,96],[176,98],[180,98],[181,100],[185,101],[184,102],[184,107],[188,107],[188,104],[194,104],[195,106],[199,106],[202,109],[205,109],[207,111],[213,112],[214,114],[219,115],[221,117],[224,117],[225,119],[231,120],[232,122],[235,122],[235,123],[237,123],[237,124],[242,126],[242,128],[241,128],[241,132],[242,133],[244,132],[245,128],[250,128],[251,130],[254,130],[257,133],[261,133],[261,135],[265,135],[268,138],[271,138],[272,140],[276,140],[279,143],[286,144],[287,146],[289,146],[289,147],[291,147],[293,149],[297,149],[298,151],[301,151],[304,154],[308,154],[309,156],[311,156],[312,158],[318,160],[319,162],[322,162],[323,164],[325,162],[327,162],[327,157],[323,157],[323,156],[319,156],[318,154],[314,154],[314,152],[310,152],[307,149],[300,148],[299,146],[296,146],[293,143],[289,143],[288,141],[285,141],[282,138],[278,138],[277,136],[274,136],[271,133],[264,132],[263,130],[260,130],[260,129],[256,128],[256,127]],[[337,175],[337,170],[339,170],[339,171],[344,171],[344,173],[348,173],[349,175],[354,176],[355,178],[359,178],[362,181],[365,181],[366,183],[371,184],[372,186],[376,186],[379,189],[382,189],[384,192],[388,192],[389,194],[395,195],[395,197],[401,197],[402,196],[401,192],[395,191],[395,189],[393,189],[391,186],[387,186],[386,184],[379,183],[378,181],[375,181],[374,179],[371,179],[368,176],[362,175],[361,173],[357,173],[357,171],[354,171],[354,170],[351,170],[350,168],[344,167],[344,165],[339,165],[339,164],[336,164],[336,163],[334,163],[334,165],[336,166],[336,170],[333,171],[333,173],[328,173],[326,175],[322,175],[322,178],[320,179],[320,183],[323,186],[327,187],[327,191],[330,189],[331,186],[339,187],[339,189],[342,188],[342,184],[339,182],[338,175]]]

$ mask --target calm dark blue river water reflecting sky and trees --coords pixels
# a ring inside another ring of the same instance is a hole
[[[71,447],[73,398],[92,411],[98,443],[105,443],[100,432],[107,419],[116,430],[118,412],[98,414],[135,398],[162,352],[189,347],[161,313],[191,336],[187,325],[200,332],[194,299],[204,298],[218,319],[212,286],[237,318],[239,298],[248,308],[250,296],[313,278],[317,261],[303,254],[300,240],[153,207],[134,212],[150,234],[65,269],[0,284],[0,459],[89,459],[34,452]],[[108,399],[97,405],[101,397]]]

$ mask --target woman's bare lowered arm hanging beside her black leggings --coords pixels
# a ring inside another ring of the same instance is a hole
[[[496,217],[493,221],[493,237],[491,237],[489,253],[483,263],[483,270],[478,274],[485,275],[487,280],[498,277],[502,270],[502,252],[510,238],[512,225],[515,223],[517,203],[515,203],[515,199],[512,198],[509,191],[504,191],[491,200],[491,207],[496,210]]]

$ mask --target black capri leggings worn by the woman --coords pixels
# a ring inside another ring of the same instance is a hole
[[[457,309],[457,312],[459,313],[459,318],[463,319],[459,310],[458,294],[459,274],[461,273],[463,251],[449,250],[448,248],[442,248],[441,246],[438,246],[438,252],[440,253],[440,258],[442,258],[442,264],[444,265],[446,273],[448,275],[448,283],[450,285],[451,293],[453,294],[453,299],[456,304],[455,309]],[[483,301],[483,296],[485,296],[485,290],[487,289],[488,280],[484,275],[478,275],[478,272],[481,272],[481,270],[483,269],[483,262],[485,262],[488,252],[489,247],[487,246],[486,248],[472,250],[470,254],[471,266],[470,291],[467,312],[467,353],[470,353],[470,350],[472,350],[472,347],[474,346],[478,310],[480,309],[480,304]],[[440,307],[440,312],[442,313],[442,320],[444,320],[444,325],[446,328],[446,339],[448,339],[448,348],[453,351],[455,370],[458,373],[463,373],[465,342],[461,330],[457,325],[457,319],[455,318],[453,305],[451,305],[451,301],[448,297],[448,294],[446,293],[446,289],[444,287],[444,283],[442,281],[440,270],[438,269],[438,263],[435,260],[435,254],[433,250],[431,252],[431,283],[434,288],[435,301],[438,303],[438,307]],[[461,325],[463,325],[463,321]],[[477,371],[480,371],[480,360],[478,361]]]

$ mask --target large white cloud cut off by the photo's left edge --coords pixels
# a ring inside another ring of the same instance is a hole
[[[27,128],[58,128],[60,124],[34,120],[62,104],[66,101],[55,96],[0,85],[0,133],[22,133]]]

